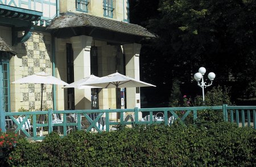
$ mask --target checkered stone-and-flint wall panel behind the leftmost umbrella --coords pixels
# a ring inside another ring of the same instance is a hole
[[[40,71],[52,71],[51,62],[51,36],[42,33],[32,33],[30,39],[24,43],[24,55],[22,77],[36,74]],[[23,95],[23,105],[28,105],[30,110],[40,109],[41,85],[24,84],[20,89]],[[52,85],[43,85],[43,109],[52,108]]]

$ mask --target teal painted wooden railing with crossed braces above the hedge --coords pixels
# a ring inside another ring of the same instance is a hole
[[[148,125],[148,124],[159,124],[164,123],[164,125],[169,125],[174,121],[178,121],[181,125],[185,126],[185,120],[188,116],[195,121],[197,119],[197,115],[199,112],[203,112],[205,110],[213,110],[214,112],[223,113],[224,121],[236,122],[238,126],[245,127],[252,126],[256,129],[256,106],[199,106],[199,107],[182,107],[182,108],[134,108],[134,109],[109,109],[109,110],[48,110],[48,111],[38,111],[38,112],[13,112],[13,113],[5,113],[5,116],[8,116],[10,120],[12,120],[16,127],[14,129],[15,132],[22,132],[23,135],[26,135],[28,139],[32,140],[42,140],[44,136],[40,136],[38,131],[40,129],[44,129],[47,135],[51,133],[54,128],[58,128],[61,136],[66,136],[70,130],[70,127],[75,127],[76,130],[85,130],[86,132],[90,132],[92,130],[97,132],[102,132],[97,122],[100,118],[105,117],[105,131],[115,130],[113,126],[117,125]],[[143,115],[148,114],[148,120],[139,119],[139,114]],[[245,114],[245,112],[247,112]],[[94,119],[90,118],[90,113],[97,113],[98,116]],[[120,113],[121,119],[119,121],[110,120],[110,113]],[[161,113],[162,117],[156,119],[156,113]],[[53,115],[61,114],[63,119],[61,122],[54,123]],[[77,115],[77,120],[75,122],[70,122],[68,120],[69,114]],[[128,121],[125,119],[126,115],[131,114],[133,117]],[[22,122],[18,122],[16,120],[20,115],[24,116]],[[44,123],[37,122],[37,117],[39,115],[46,115],[47,119]],[[24,125],[28,119],[31,119],[32,127],[31,131],[28,132],[24,129]],[[86,124],[86,125],[84,125]],[[60,130],[61,129],[61,130]]]

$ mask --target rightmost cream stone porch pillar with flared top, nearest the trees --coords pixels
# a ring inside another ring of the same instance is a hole
[[[125,71],[126,75],[139,80],[139,53],[141,51],[140,44],[126,44],[123,45],[123,52],[125,53]],[[126,88],[126,106],[127,109],[141,108],[141,100],[139,88]]]

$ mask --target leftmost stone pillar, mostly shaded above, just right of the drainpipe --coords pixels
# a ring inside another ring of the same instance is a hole
[[[55,38],[55,77],[67,82],[67,55],[66,41]],[[56,86],[56,110],[64,110],[67,101],[64,100],[64,85]],[[67,98],[65,98],[67,99]]]

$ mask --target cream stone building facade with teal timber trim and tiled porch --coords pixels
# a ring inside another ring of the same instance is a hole
[[[0,11],[0,36],[15,51],[0,50],[5,112],[39,110],[40,84],[11,82],[40,71],[67,83],[115,71],[139,79],[139,43],[154,37],[129,23],[128,0],[2,0]],[[134,108],[139,99],[139,88],[43,89],[44,109]]]

